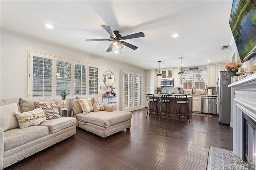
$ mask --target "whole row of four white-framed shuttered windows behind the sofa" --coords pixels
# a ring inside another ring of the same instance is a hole
[[[99,93],[99,67],[78,61],[28,51],[28,97],[51,96],[61,100]]]

